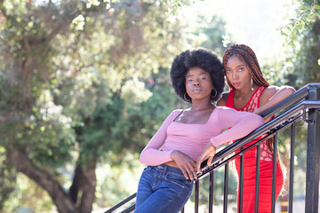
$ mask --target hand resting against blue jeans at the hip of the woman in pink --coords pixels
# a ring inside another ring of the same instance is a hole
[[[196,179],[196,162],[192,158],[178,150],[172,151],[170,157],[177,164],[186,179]]]

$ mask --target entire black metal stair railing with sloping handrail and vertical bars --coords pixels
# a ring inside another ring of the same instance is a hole
[[[244,153],[248,150],[257,148],[256,161],[256,185],[255,185],[255,212],[259,209],[259,185],[260,185],[260,143],[268,138],[273,139],[273,152],[278,150],[278,133],[291,128],[290,138],[290,164],[289,164],[289,192],[288,192],[288,212],[292,213],[293,204],[293,177],[294,177],[294,150],[295,150],[295,126],[296,122],[302,121],[308,124],[308,141],[307,141],[307,171],[306,171],[306,196],[305,196],[305,212],[318,212],[319,201],[319,167],[320,167],[320,83],[309,83],[299,91],[296,91],[287,99],[284,99],[276,106],[269,108],[261,114],[262,117],[269,118],[274,114],[278,114],[274,119],[265,123],[257,130],[252,131],[248,136],[236,140],[235,143],[225,147],[220,152],[215,154],[212,164],[206,166],[207,162],[202,164],[203,174],[198,174],[198,179],[195,181],[195,212],[198,212],[199,207],[199,183],[203,177],[210,175],[209,189],[209,213],[213,212],[213,172],[224,166],[224,196],[223,196],[223,212],[228,211],[228,171],[229,162],[240,157],[240,176],[239,176],[239,201],[238,210],[242,212],[243,199],[243,182],[244,182]],[[254,138],[264,136],[252,145],[244,148],[244,145],[251,142]],[[240,152],[235,153],[236,150]],[[108,209],[105,213],[115,212],[132,212],[135,209],[134,199],[136,193],[121,201],[116,206]],[[132,202],[129,207],[124,209],[124,204]],[[119,209],[121,209],[119,211]],[[273,154],[273,173],[272,173],[272,197],[271,197],[271,212],[276,209],[276,154]],[[184,212],[184,209],[181,210]]]

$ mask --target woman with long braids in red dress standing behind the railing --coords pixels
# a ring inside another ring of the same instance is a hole
[[[237,111],[261,114],[275,106],[295,90],[290,86],[270,86],[263,77],[258,59],[252,49],[244,44],[231,45],[223,56],[223,67],[230,91],[224,93],[218,106],[228,106]],[[254,139],[244,147],[250,146]],[[271,212],[272,193],[272,139],[260,144],[260,190],[259,212]],[[284,170],[279,156],[276,162],[276,198],[284,185]],[[236,171],[239,176],[240,157],[236,158]],[[243,212],[254,212],[256,179],[256,148],[244,154],[244,193]]]

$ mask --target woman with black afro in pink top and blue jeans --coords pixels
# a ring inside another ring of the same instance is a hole
[[[199,154],[212,162],[215,147],[243,138],[264,123],[258,114],[214,106],[224,87],[223,67],[211,51],[183,51],[171,68],[172,86],[191,104],[164,120],[140,154],[136,213],[179,212],[192,192]],[[228,127],[230,130],[224,131]]]

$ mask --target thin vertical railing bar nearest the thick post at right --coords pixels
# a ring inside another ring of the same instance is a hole
[[[289,174],[289,213],[292,213],[293,204],[293,175],[294,175],[294,149],[295,149],[295,122],[292,123],[290,138],[290,174]]]

